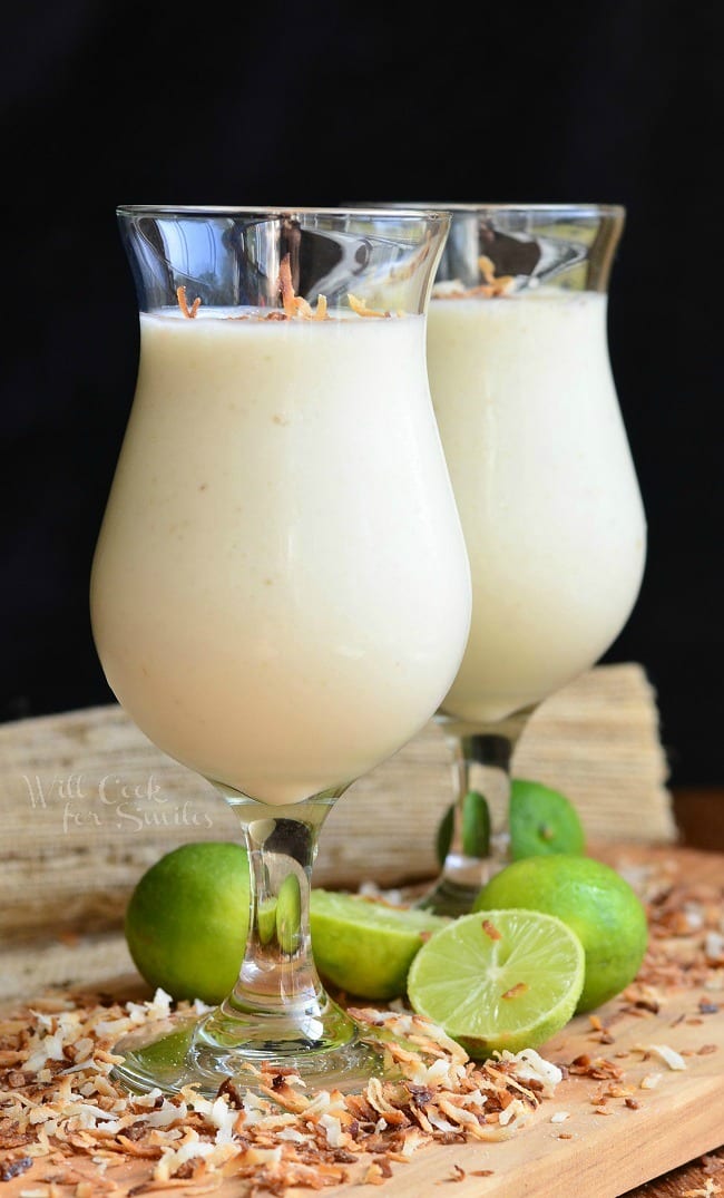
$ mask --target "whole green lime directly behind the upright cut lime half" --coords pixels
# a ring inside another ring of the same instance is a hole
[[[512,861],[473,903],[473,910],[500,908],[546,912],[576,932],[585,952],[577,1011],[590,1011],[620,994],[646,952],[644,904],[616,870],[592,857],[559,853]]]

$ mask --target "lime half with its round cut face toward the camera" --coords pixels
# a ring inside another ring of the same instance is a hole
[[[436,932],[407,978],[409,1003],[475,1060],[536,1048],[568,1022],[584,952],[560,919],[530,910],[461,915]]]

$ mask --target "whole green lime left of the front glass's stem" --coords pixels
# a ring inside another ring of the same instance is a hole
[[[249,860],[241,845],[197,841],[171,849],[139,879],[126,942],[154,990],[220,1003],[233,988],[249,926]]]

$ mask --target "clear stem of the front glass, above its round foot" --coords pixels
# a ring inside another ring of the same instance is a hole
[[[247,948],[236,986],[203,1021],[197,1048],[238,1047],[247,1060],[284,1060],[353,1037],[352,1019],[320,980],[310,934],[320,830],[340,793],[286,806],[232,803],[249,854]]]

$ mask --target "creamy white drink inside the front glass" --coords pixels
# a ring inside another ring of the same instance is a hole
[[[282,804],[421,728],[460,665],[470,581],[425,319],[241,315],[141,315],[91,612],[146,734]]]

